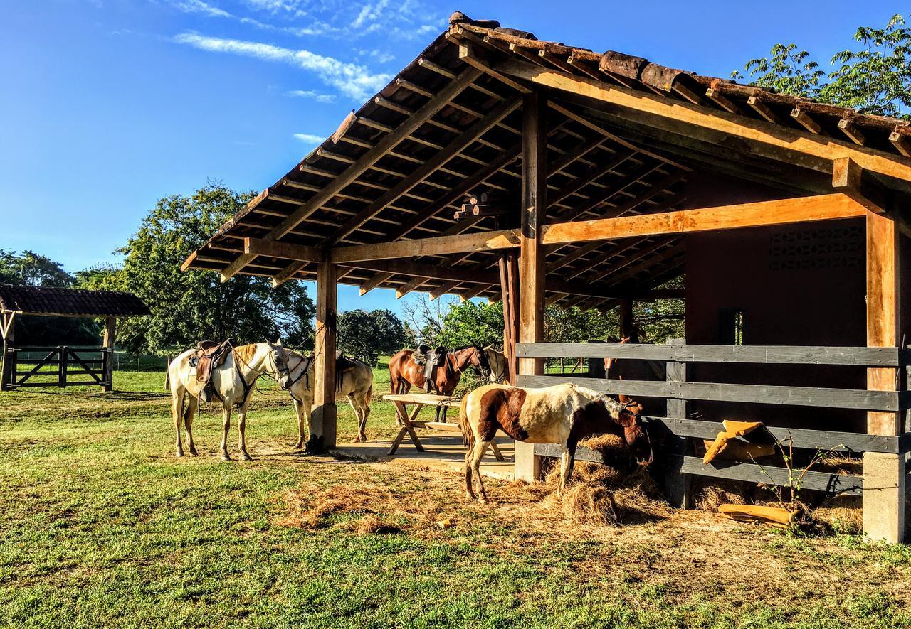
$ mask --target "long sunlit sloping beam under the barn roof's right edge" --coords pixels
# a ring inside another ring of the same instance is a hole
[[[870,147],[860,147],[847,141],[814,135],[806,131],[773,125],[763,120],[737,116],[717,109],[681,102],[667,96],[645,94],[602,81],[567,76],[555,70],[533,66],[517,59],[494,64],[496,72],[524,79],[538,86],[588,96],[619,109],[640,112],[660,118],[673,126],[705,129],[713,132],[715,143],[730,143],[738,137],[750,143],[752,152],[788,163],[803,162],[822,172],[831,172],[831,162],[837,157],[852,157],[867,170],[887,177],[911,180],[911,160]],[[664,125],[667,127],[667,125]],[[695,133],[695,130],[693,131]],[[706,137],[706,134],[701,134]],[[722,139],[727,137],[728,139]],[[807,158],[800,159],[799,156]]]

